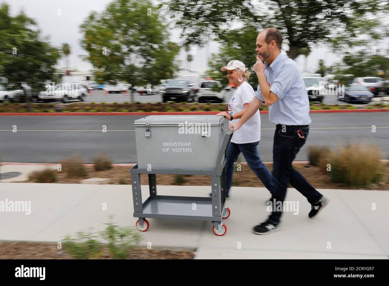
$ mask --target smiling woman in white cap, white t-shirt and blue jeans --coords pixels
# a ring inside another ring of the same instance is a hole
[[[254,98],[254,89],[247,82],[250,74],[244,63],[233,60],[226,67],[221,68],[227,71],[227,78],[235,85],[236,89],[228,104],[228,112],[220,112],[218,116],[224,116],[231,123],[238,122],[246,111],[247,106]],[[229,191],[234,174],[234,162],[238,160],[242,152],[247,164],[255,172],[265,187],[271,191],[273,186],[272,173],[259,158],[257,146],[261,138],[261,117],[257,111],[239,130],[234,132],[230,145],[227,149],[226,161],[226,197],[229,197]]]

